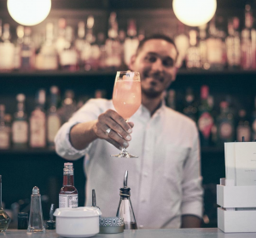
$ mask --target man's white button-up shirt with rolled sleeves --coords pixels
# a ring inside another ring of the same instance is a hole
[[[131,116],[134,127],[128,151],[138,158],[114,158],[119,150],[104,139],[96,139],[84,150],[76,150],[69,132],[79,122],[89,122],[108,109],[112,100],[90,99],[65,123],[55,137],[56,152],[68,159],[85,156],[86,206],[96,190],[102,216],[115,216],[119,188],[128,170],[128,187],[137,226],[143,229],[179,228],[181,216],[201,218],[202,188],[200,148],[195,122],[162,104],[153,116],[141,105]]]

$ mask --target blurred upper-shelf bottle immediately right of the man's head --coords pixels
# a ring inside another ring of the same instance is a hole
[[[177,68],[181,68],[184,65],[184,60],[189,48],[189,37],[185,33],[185,26],[180,21],[177,23],[177,35],[174,37],[174,42],[178,51],[176,66]]]

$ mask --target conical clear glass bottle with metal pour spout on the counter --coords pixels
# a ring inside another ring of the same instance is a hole
[[[131,206],[131,192],[127,186],[128,171],[125,171],[124,188],[120,189],[120,201],[119,207],[116,212],[118,218],[123,218],[125,223],[125,229],[137,229],[136,218]]]

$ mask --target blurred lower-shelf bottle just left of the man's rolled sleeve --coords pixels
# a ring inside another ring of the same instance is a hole
[[[61,127],[61,117],[57,113],[59,88],[50,88],[50,106],[47,115],[47,143],[50,148],[55,147],[55,135]]]

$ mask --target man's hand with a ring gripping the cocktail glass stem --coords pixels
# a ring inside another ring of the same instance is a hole
[[[109,109],[98,117],[92,129],[97,138],[106,139],[121,150],[122,147],[129,146],[128,141],[131,140],[132,127],[134,127],[132,122],[125,122],[125,119],[116,111]],[[109,133],[107,132],[108,128],[111,129]]]

